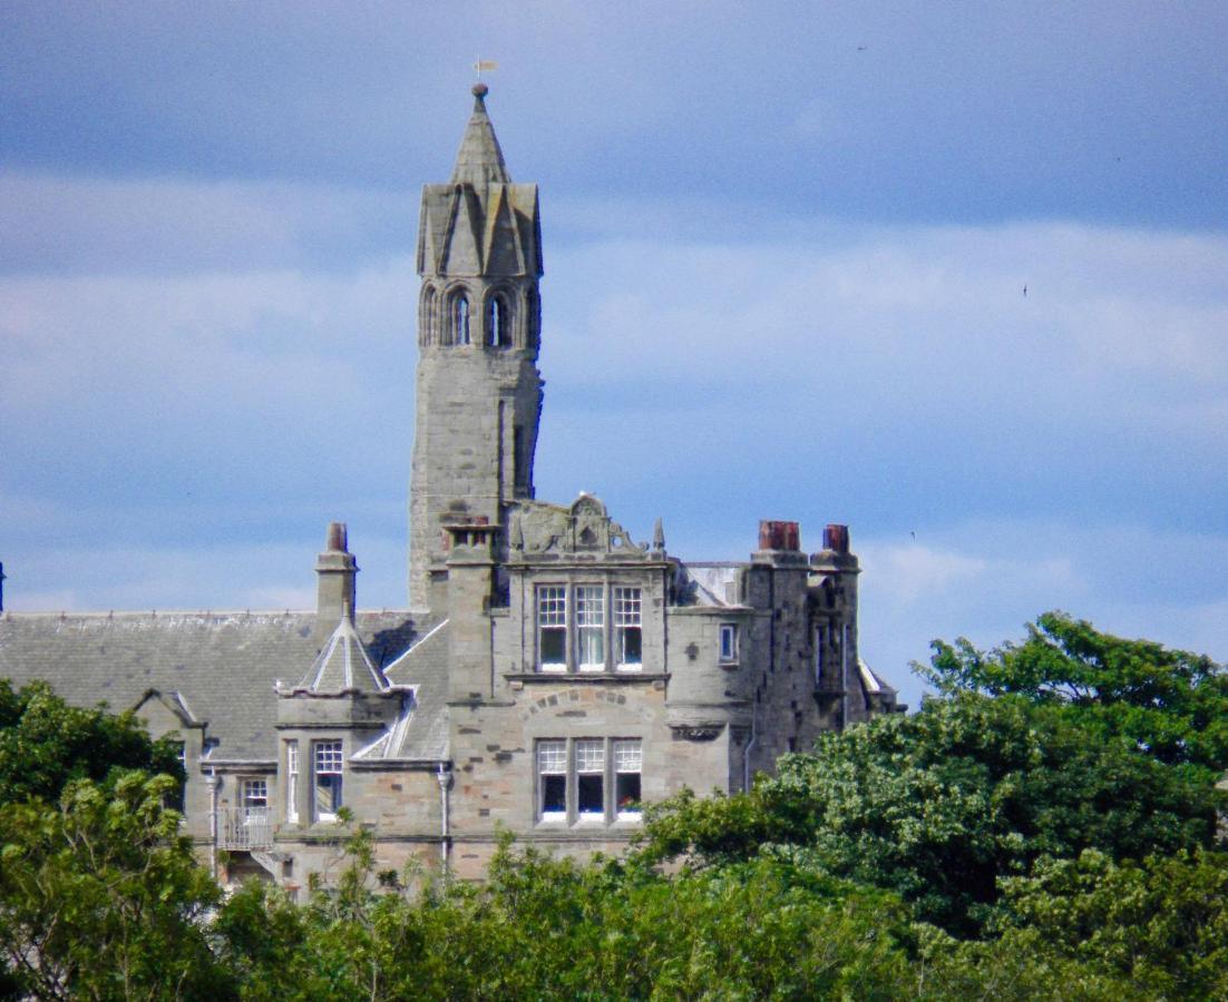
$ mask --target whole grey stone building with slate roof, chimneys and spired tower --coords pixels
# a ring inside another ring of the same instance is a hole
[[[382,867],[475,876],[499,829],[619,851],[640,803],[744,789],[819,732],[903,709],[857,654],[844,526],[806,553],[764,521],[743,563],[639,542],[596,497],[538,500],[538,190],[475,104],[422,193],[409,608],[361,612],[345,526],[317,607],[0,617],[0,676],[136,708],[183,742],[185,824],[227,876],[338,865],[338,814]]]

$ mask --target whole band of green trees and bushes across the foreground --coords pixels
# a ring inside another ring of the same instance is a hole
[[[481,884],[348,863],[220,890],[131,715],[0,684],[0,993],[38,997],[1228,997],[1224,682],[1060,613],[937,643],[943,698],[650,806],[621,860],[505,841]],[[59,797],[59,806],[52,806]],[[1141,862],[1135,862],[1141,861]]]

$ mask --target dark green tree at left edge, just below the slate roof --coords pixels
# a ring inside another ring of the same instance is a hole
[[[54,802],[71,780],[104,782],[112,769],[183,780],[174,748],[151,741],[133,713],[70,706],[45,682],[15,692],[0,679],[0,803]]]

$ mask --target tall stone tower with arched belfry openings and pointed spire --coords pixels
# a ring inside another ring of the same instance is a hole
[[[486,85],[452,179],[422,189],[418,229],[418,412],[409,491],[409,605],[441,608],[445,525],[488,524],[506,551],[507,505],[533,497],[542,416],[535,184],[512,184]]]

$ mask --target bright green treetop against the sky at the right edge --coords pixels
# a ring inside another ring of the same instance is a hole
[[[931,646],[931,664],[914,670],[939,693],[1063,706],[1098,740],[1122,736],[1159,762],[1228,769],[1228,675],[1205,655],[1100,633],[1063,612],[1038,617],[1022,644]]]

